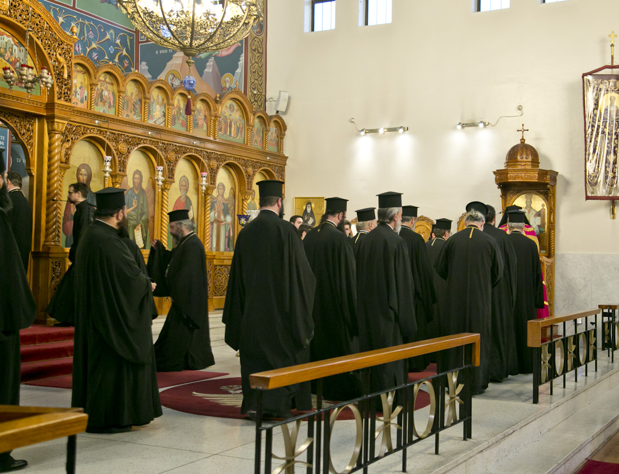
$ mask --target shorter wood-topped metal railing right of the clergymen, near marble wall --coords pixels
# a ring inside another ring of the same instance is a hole
[[[527,346],[534,352],[533,357],[533,403],[539,402],[539,387],[550,381],[550,394],[553,392],[553,380],[563,376],[569,371],[574,371],[574,377],[578,380],[578,368],[585,366],[585,376],[588,375],[588,363],[595,360],[597,371],[597,344],[595,332],[597,330],[597,315],[600,309],[575,311],[565,315],[557,315],[552,318],[530,320],[527,322]],[[594,329],[589,329],[589,317],[594,318]],[[571,336],[565,334],[565,323],[584,318],[584,331],[576,332]],[[563,323],[563,336],[555,338],[552,332],[554,324]],[[543,328],[551,328],[550,341],[543,341]],[[582,355],[580,350],[582,349]],[[556,365],[556,352],[561,355],[560,365]]]

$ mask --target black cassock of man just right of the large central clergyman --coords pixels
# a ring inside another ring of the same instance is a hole
[[[303,239],[305,255],[316,277],[314,338],[309,345],[312,362],[359,352],[357,272],[348,240],[331,221],[312,229]],[[359,397],[360,380],[351,373],[327,377],[322,396],[327,400]]]

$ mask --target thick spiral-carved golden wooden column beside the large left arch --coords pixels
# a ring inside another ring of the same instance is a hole
[[[60,155],[63,151],[63,132],[67,122],[48,121],[49,135],[47,159],[47,200],[45,206],[45,241],[43,245],[60,245],[63,225],[62,203],[63,181],[60,169]],[[63,173],[64,174],[64,173]]]

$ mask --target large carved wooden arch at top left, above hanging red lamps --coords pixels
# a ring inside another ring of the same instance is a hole
[[[0,22],[4,27],[12,23],[15,36],[25,44],[25,28],[31,25],[32,37],[37,43],[37,56],[40,64],[47,66],[53,76],[52,96],[58,101],[71,103],[72,96],[72,57],[73,45],[77,38],[63,31],[54,17],[40,2],[25,2],[23,0],[3,0],[0,9]],[[5,7],[6,6],[6,7]],[[34,44],[32,45],[34,46]],[[32,53],[34,56],[34,48]]]

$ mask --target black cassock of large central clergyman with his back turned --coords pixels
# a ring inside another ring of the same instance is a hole
[[[309,362],[315,288],[295,226],[260,211],[236,239],[223,307],[225,341],[241,355],[241,413],[258,408],[249,375]],[[264,391],[262,407],[285,417],[293,407],[309,410],[309,382]]]

